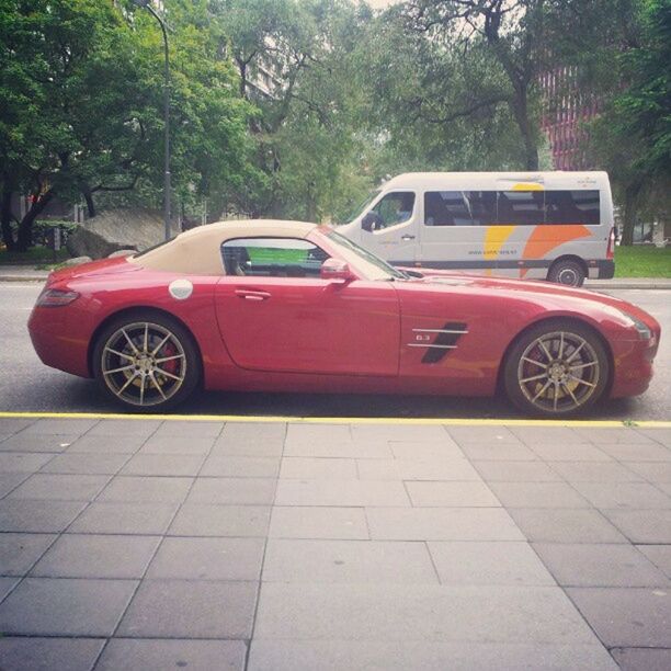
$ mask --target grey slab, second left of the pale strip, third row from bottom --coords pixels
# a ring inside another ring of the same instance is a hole
[[[41,578],[141,578],[159,536],[64,534],[31,571]]]

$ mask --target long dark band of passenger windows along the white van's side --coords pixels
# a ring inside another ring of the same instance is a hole
[[[428,191],[425,226],[601,223],[599,191]]]

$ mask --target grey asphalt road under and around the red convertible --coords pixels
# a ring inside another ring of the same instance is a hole
[[[0,410],[52,412],[116,412],[93,380],[43,365],[27,336],[30,310],[39,284],[0,283]],[[635,303],[662,325],[656,376],[642,396],[609,400],[592,419],[671,419],[671,292],[619,289],[610,292]],[[515,418],[503,399],[411,396],[229,394],[205,393],[179,410],[184,414],[248,414],[293,417],[440,417]]]

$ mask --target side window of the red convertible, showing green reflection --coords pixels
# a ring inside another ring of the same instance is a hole
[[[329,258],[298,238],[238,238],[221,244],[227,275],[248,277],[319,277]]]

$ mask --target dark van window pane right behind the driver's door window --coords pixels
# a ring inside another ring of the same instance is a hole
[[[428,191],[427,226],[489,226],[497,221],[496,191]]]

